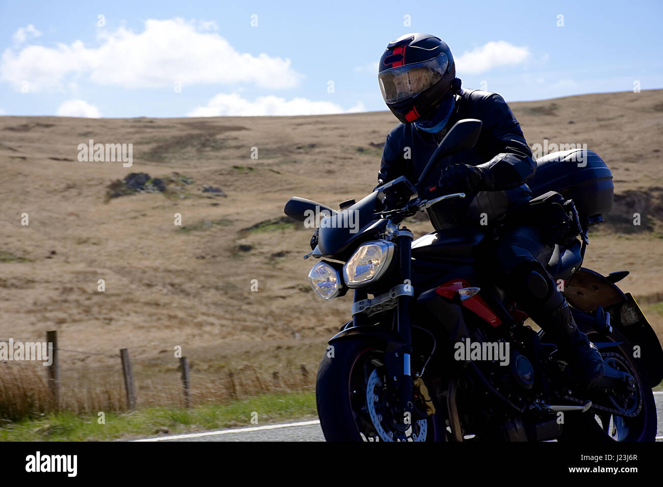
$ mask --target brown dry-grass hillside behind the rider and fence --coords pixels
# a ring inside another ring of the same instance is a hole
[[[619,215],[639,211],[647,225],[629,235],[619,227],[592,235],[585,265],[603,274],[631,270],[620,286],[651,303],[663,295],[660,106],[663,90],[511,104],[530,145],[544,138],[587,143],[607,162],[623,195]],[[139,405],[182,404],[177,364],[162,358],[177,345],[192,364],[194,403],[310,390],[325,341],[347,321],[352,298],[326,303],[310,291],[312,264],[301,256],[312,232],[280,220],[282,208],[293,195],[331,207],[363,197],[375,186],[381,144],[395,124],[389,112],[0,117],[0,339],[34,341],[58,330],[67,349],[128,348]],[[133,167],[78,162],[78,144],[89,138],[133,143]],[[258,159],[251,159],[252,147]],[[107,186],[130,172],[186,174],[192,182],[176,182],[182,189],[168,195],[108,201]],[[227,197],[203,197],[203,185]],[[29,213],[27,227],[22,213]],[[182,215],[182,227],[174,226],[174,213]],[[413,223],[412,230],[422,235],[430,223]],[[97,292],[99,279],[105,292]],[[253,280],[258,292],[251,291]],[[663,317],[650,319],[663,337]],[[63,354],[62,406],[125,407],[118,361]],[[0,407],[8,414],[50,407],[43,370],[25,372],[23,389],[23,376],[12,373],[0,378]]]

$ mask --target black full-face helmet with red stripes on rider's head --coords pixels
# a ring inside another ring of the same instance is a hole
[[[402,123],[432,117],[444,98],[460,89],[449,46],[430,34],[389,42],[377,76],[387,107]]]

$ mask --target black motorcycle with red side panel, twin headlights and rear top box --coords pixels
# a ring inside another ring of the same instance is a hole
[[[316,402],[328,441],[654,441],[652,387],[663,379],[663,350],[629,292],[581,267],[587,232],[613,200],[612,175],[595,152],[537,161],[530,204],[564,197],[571,238],[555,244],[548,271],[578,327],[601,352],[605,376],[591,390],[542,330],[525,325],[518,303],[485,272],[490,235],[474,227],[414,240],[404,219],[465,197],[427,198],[426,175],[472,148],[481,121],[457,122],[417,182],[397,178],[339,211],[292,197],[286,215],[322,213],[308,277],[330,300],[353,291],[352,318],[328,341]],[[552,193],[550,192],[552,191]],[[354,222],[348,225],[348,222]]]

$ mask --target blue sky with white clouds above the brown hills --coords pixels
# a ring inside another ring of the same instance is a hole
[[[407,32],[507,101],[663,87],[663,2],[577,3],[2,0],[0,115],[384,110],[377,60]]]

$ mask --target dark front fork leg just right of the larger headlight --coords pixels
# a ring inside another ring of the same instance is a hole
[[[400,264],[400,277],[402,284],[412,286],[410,276],[410,258],[412,252],[412,232],[403,227],[398,231],[396,245],[398,246],[398,258]],[[398,296],[397,325],[398,335],[403,342],[402,356],[399,362],[402,362],[402,375],[400,380],[400,407],[402,411],[410,412],[412,418],[412,366],[410,364],[410,354],[412,353],[412,329],[410,326],[410,300],[411,296]]]

